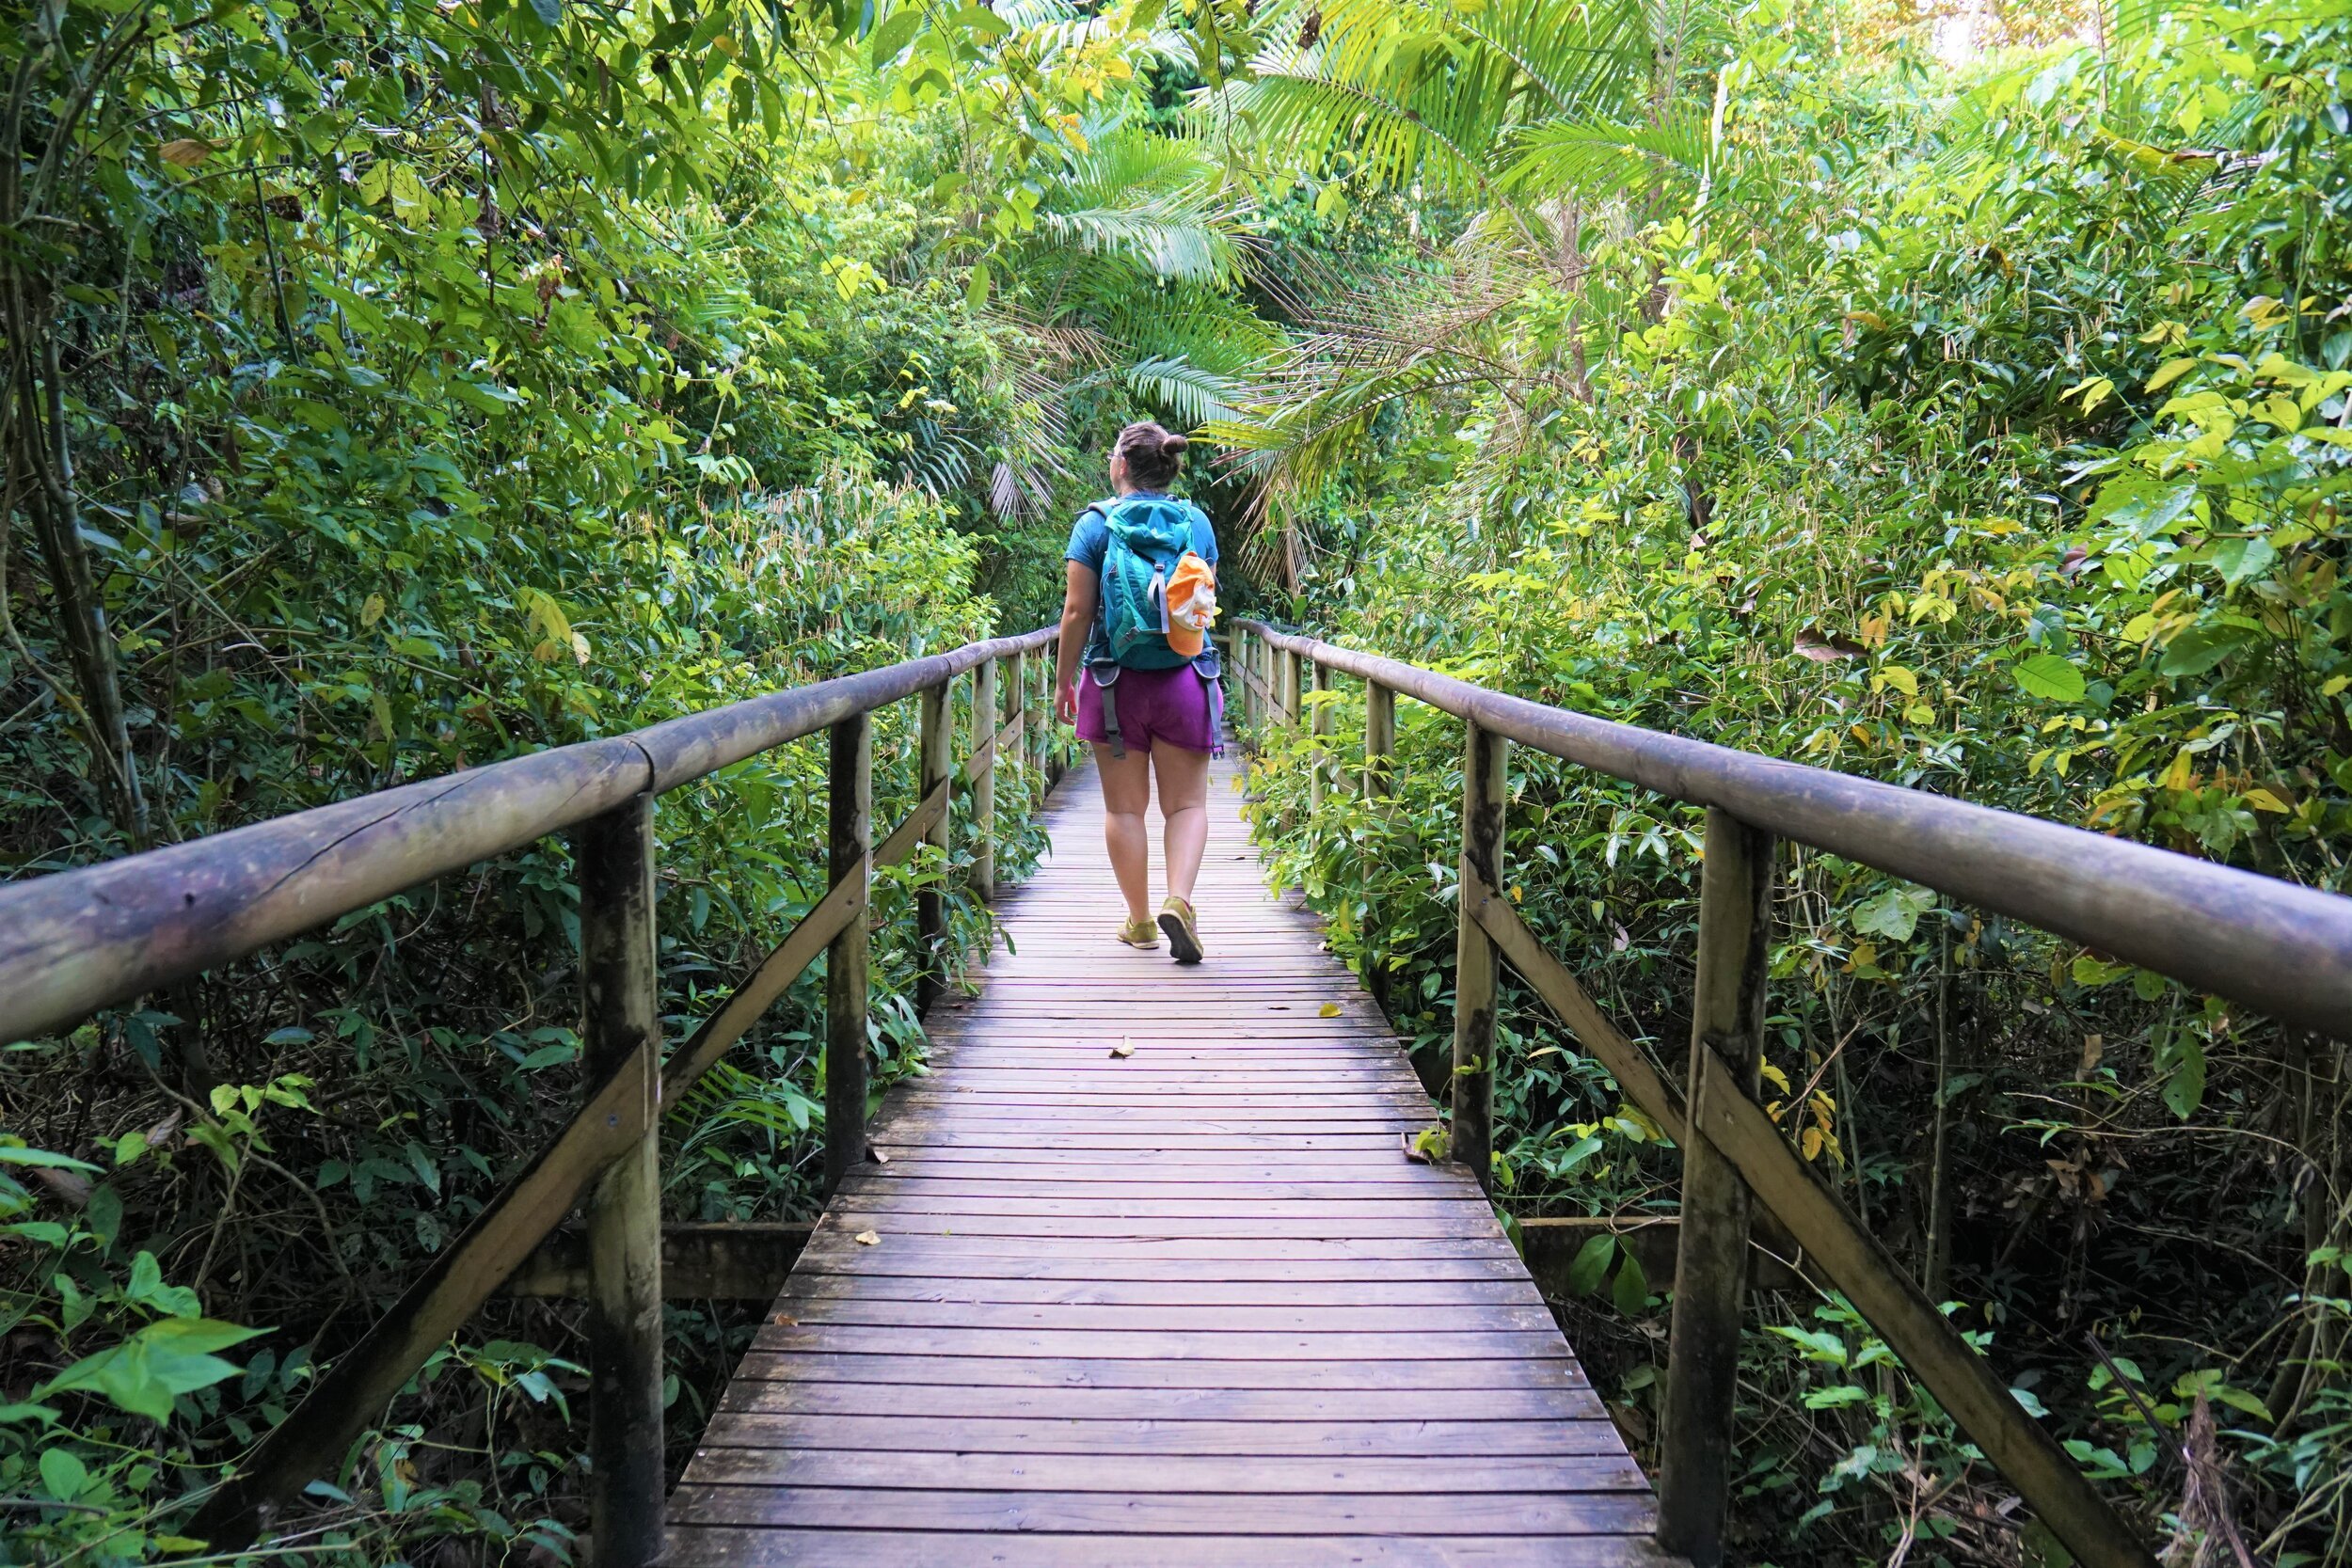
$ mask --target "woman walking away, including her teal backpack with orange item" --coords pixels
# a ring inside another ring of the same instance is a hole
[[[1061,607],[1056,712],[1077,722],[1103,776],[1103,839],[1127,898],[1120,940],[1200,964],[1192,884],[1209,844],[1209,757],[1223,724],[1216,651],[1202,635],[1216,614],[1216,531],[1209,515],[1167,491],[1185,437],[1157,423],[1120,430],[1110,449],[1110,501],[1070,529]],[[1167,886],[1150,917],[1150,832],[1143,811],[1160,785]]]

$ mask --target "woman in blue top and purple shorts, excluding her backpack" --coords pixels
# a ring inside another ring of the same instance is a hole
[[[1200,661],[1148,668],[1181,656],[1164,646],[1145,658],[1115,656],[1096,614],[1103,559],[1112,548],[1110,512],[1131,496],[1164,498],[1176,482],[1183,449],[1185,437],[1150,421],[1120,430],[1110,449],[1110,487],[1117,498],[1089,505],[1070,529],[1054,691],[1056,712],[1063,722],[1075,719],[1080,738],[1094,743],[1094,762],[1103,773],[1103,839],[1110,849],[1110,870],[1127,898],[1120,940],[1155,950],[1160,931],[1167,931],[1176,961],[1200,964],[1192,882],[1209,846],[1209,755],[1218,745],[1221,715],[1216,656],[1202,654]],[[1197,505],[1176,505],[1190,515],[1192,550],[1214,567],[1216,534],[1209,517]],[[1160,780],[1169,877],[1160,931],[1150,919],[1150,835],[1143,825],[1152,778]]]

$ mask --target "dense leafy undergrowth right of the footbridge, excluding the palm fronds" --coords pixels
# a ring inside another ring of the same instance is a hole
[[[1955,82],[1764,7],[1726,61],[1679,195],[1571,212],[1566,266],[1472,228],[1402,324],[1305,348],[1261,418],[1294,616],[2343,891],[2352,24],[2199,7]],[[1310,701],[1350,762],[1359,693]],[[1442,1058],[1461,736],[1399,708],[1395,804],[1310,813],[1282,731],[1256,818]],[[1679,1079],[1698,813],[1515,752],[1505,830],[1510,898]],[[1813,851],[1776,919],[1773,1114],[2084,1469],[2169,1561],[2352,1561],[2345,1044]],[[1672,1208],[1658,1128],[1524,992],[1496,1093],[1522,1204]],[[1661,1281],[1597,1244],[1578,1284],[1649,1439]],[[2056,1561],[1837,1300],[1752,1324],[1740,1561]]]

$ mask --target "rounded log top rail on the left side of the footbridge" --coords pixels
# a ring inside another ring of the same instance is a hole
[[[971,642],[0,886],[0,1041],[49,1034],[101,1006],[576,827],[633,795],[666,795],[981,663],[1037,651],[1056,630]]]

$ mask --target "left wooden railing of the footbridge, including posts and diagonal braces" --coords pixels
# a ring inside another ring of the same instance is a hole
[[[249,1544],[350,1443],[442,1340],[506,1286],[548,1234],[586,1211],[590,1533],[597,1568],[661,1552],[661,1107],[710,1070],[816,959],[826,959],[826,1190],[866,1159],[868,889],[917,844],[948,849],[955,790],[950,684],[971,672],[974,891],[995,889],[997,755],[1049,788],[1063,755],[1051,703],[1028,724],[1030,661],[1056,628],[974,642],[842,679],[673,719],[612,741],[499,762],[301,811],[78,872],[0,889],[0,1041],[80,1023],[259,952],[402,889],[562,830],[576,832],[586,1088],[579,1114],[489,1199],[310,1394],[240,1462],[183,1533]],[[997,668],[1011,693],[997,724]],[[1035,679],[1030,672],[1035,670]],[[920,701],[917,804],[870,844],[875,708]],[[654,799],[816,731],[833,745],[830,891],[727,1001],[663,1058],[654,971]],[[948,903],[915,900],[922,999],[946,973]]]

